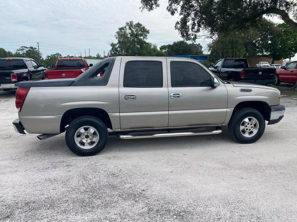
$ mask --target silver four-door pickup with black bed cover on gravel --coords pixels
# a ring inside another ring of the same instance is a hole
[[[253,143],[265,120],[285,112],[280,91],[222,81],[198,61],[174,57],[110,57],[72,79],[20,82],[16,92],[17,132],[66,132],[78,155],[102,150],[108,136],[121,139],[218,134]]]

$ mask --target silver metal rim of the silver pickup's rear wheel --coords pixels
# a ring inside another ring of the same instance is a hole
[[[91,149],[99,142],[99,133],[93,126],[82,126],[74,134],[74,141],[79,148]]]

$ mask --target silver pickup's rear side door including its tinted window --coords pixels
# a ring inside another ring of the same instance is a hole
[[[164,58],[122,58],[119,79],[121,129],[168,126]]]

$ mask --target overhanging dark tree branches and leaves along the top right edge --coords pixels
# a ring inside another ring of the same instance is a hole
[[[141,0],[141,4],[142,10],[151,11],[159,7],[159,0]],[[196,40],[201,28],[210,34],[242,30],[263,15],[279,15],[297,32],[296,0],[168,0],[167,10],[171,15],[179,13],[175,28],[186,40]]]

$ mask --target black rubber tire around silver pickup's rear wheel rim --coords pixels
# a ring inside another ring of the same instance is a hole
[[[99,134],[99,141],[93,148],[84,149],[79,147],[75,142],[75,134],[78,129],[83,126],[91,126],[95,128]],[[91,156],[101,151],[108,140],[108,132],[106,125],[94,116],[82,116],[73,120],[67,127],[65,140],[68,148],[77,155],[80,156]]]

